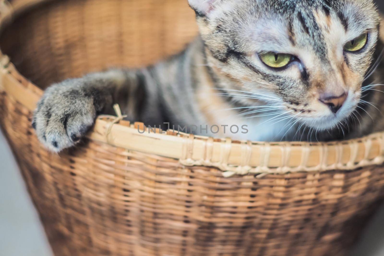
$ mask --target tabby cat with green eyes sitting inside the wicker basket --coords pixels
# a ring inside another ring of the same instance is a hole
[[[32,121],[43,145],[74,146],[114,104],[131,121],[209,125],[192,132],[233,139],[329,141],[384,130],[381,20],[371,0],[189,5],[200,34],[182,53],[47,88]],[[247,132],[228,134],[234,125]]]

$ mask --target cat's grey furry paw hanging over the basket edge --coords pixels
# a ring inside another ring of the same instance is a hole
[[[94,98],[79,83],[81,79],[55,84],[38,102],[32,126],[41,143],[51,151],[72,147],[94,124]]]

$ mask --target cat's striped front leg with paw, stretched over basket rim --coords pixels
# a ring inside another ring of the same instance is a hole
[[[89,74],[68,79],[46,89],[34,112],[32,126],[40,142],[51,151],[72,147],[93,126],[96,116],[111,113],[113,104],[126,107],[132,83],[125,71]]]

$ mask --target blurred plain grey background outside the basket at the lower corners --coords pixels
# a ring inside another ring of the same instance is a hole
[[[384,1],[377,4],[384,10]],[[351,256],[384,256],[384,206],[374,216]],[[5,138],[0,132],[0,255],[51,256],[43,228]]]

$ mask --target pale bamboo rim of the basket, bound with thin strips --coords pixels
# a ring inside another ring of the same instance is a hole
[[[38,3],[20,0],[0,8],[0,28]],[[5,1],[6,2],[6,1]],[[0,32],[1,33],[1,32]],[[0,92],[33,112],[43,91],[22,76],[0,50]],[[144,132],[143,123],[131,124],[113,116],[99,116],[88,138],[102,144],[179,160],[185,166],[216,167],[224,176],[353,170],[384,163],[384,132],[334,142],[251,142],[220,139],[173,130]],[[119,122],[116,122],[119,121]],[[139,132],[139,130],[141,132]],[[148,131],[149,129],[146,129]],[[166,150],[164,150],[166,149]]]

